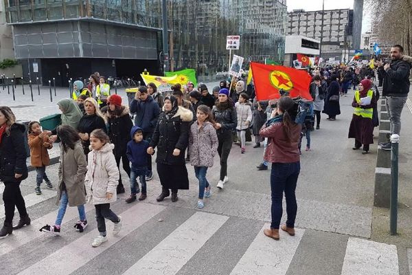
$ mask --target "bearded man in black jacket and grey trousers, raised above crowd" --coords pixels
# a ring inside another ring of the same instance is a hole
[[[391,120],[391,134],[400,134],[400,115],[409,93],[411,65],[402,60],[403,47],[391,47],[391,63],[377,65],[383,77],[382,96],[386,97],[387,112]],[[391,150],[391,142],[380,144],[383,150]]]

